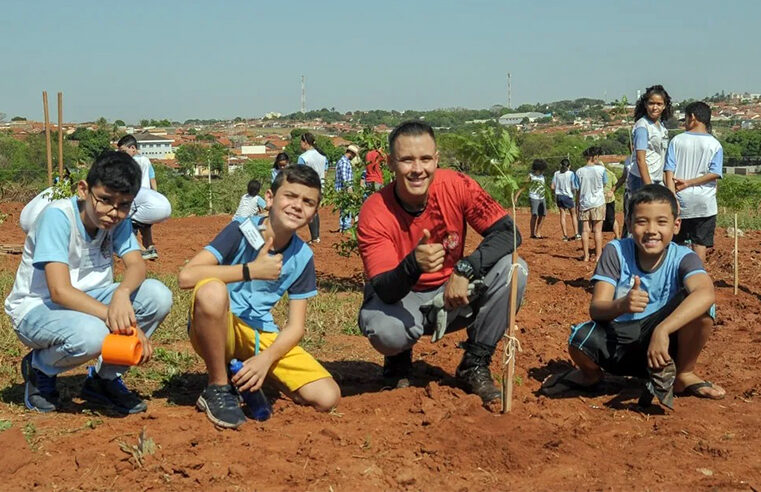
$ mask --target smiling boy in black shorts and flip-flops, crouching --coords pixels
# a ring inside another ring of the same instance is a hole
[[[551,376],[542,391],[590,389],[607,371],[648,379],[667,406],[672,391],[723,398],[722,388],[694,372],[713,329],[714,290],[698,256],[671,242],[679,230],[673,193],[645,185],[627,220],[631,237],[608,243],[592,277],[593,321],[573,327],[569,339],[579,369]]]

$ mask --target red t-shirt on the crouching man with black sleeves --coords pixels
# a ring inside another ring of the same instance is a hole
[[[423,229],[431,233],[432,243],[446,250],[444,267],[438,272],[423,273],[412,290],[429,290],[442,285],[452,274],[454,264],[462,258],[465,247],[465,224],[479,234],[507,215],[481,186],[465,174],[438,169],[428,188],[428,203],[415,217],[394,196],[394,183],[370,195],[359,212],[359,253],[365,274],[373,278],[393,270],[417,246]]]

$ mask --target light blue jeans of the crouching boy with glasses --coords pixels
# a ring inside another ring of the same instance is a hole
[[[119,284],[86,292],[108,304]],[[164,321],[172,307],[172,291],[154,279],[146,279],[130,296],[138,326],[147,337]],[[95,369],[104,379],[114,379],[128,367],[104,364],[100,359],[103,339],[110,333],[106,323],[91,314],[64,309],[48,301],[29,311],[19,323],[16,334],[33,349],[32,366],[48,376],[73,369],[98,357]]]

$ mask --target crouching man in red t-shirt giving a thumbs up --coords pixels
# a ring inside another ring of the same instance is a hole
[[[457,378],[484,403],[498,400],[489,364],[507,325],[513,221],[473,179],[437,169],[436,140],[426,123],[402,123],[391,132],[389,148],[394,181],[370,196],[359,214],[359,251],[368,278],[360,329],[385,356],[387,383],[409,386],[412,346],[434,332],[431,303],[441,294],[446,331],[468,330]],[[466,223],[483,240],[463,257]],[[527,272],[521,265],[518,305]],[[481,282],[469,299],[469,286]]]

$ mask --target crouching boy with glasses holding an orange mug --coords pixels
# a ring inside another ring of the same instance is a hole
[[[141,363],[152,354],[148,337],[172,306],[172,293],[145,278],[132,225],[125,220],[140,188],[140,168],[123,152],[106,152],[77,185],[77,197],[45,208],[24,243],[5,311],[21,341],[32,349],[21,361],[24,404],[40,412],[60,407],[58,374],[100,355],[109,333],[139,327]],[[124,262],[114,283],[113,254]],[[147,409],[121,375],[127,368],[98,361],[82,397],[121,413]]]

